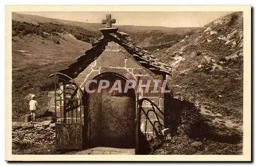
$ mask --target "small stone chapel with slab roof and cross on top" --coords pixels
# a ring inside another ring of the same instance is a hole
[[[75,123],[82,123],[80,135],[82,135],[83,144],[89,147],[135,148],[139,144],[137,138],[140,133],[147,139],[148,135],[154,131],[158,132],[165,128],[164,112],[168,109],[169,94],[161,91],[146,92],[146,87],[141,87],[139,91],[136,87],[125,93],[116,91],[110,93],[108,89],[100,93],[87,93],[84,90],[85,86],[89,80],[109,80],[110,84],[116,80],[121,82],[142,80],[144,83],[152,80],[152,84],[148,85],[152,90],[153,81],[160,80],[158,86],[160,89],[166,77],[171,75],[172,68],[137,46],[128,34],[112,28],[111,23],[115,23],[115,19],[111,19],[110,15],[107,15],[107,19],[102,23],[106,24],[106,28],[100,29],[102,37],[92,44],[90,50],[57,73],[68,76],[66,80],[75,82],[81,91],[83,107],[78,109],[81,114],[80,121],[76,117]],[[65,77],[62,79],[65,80]],[[57,82],[61,81],[57,80]],[[90,88],[97,89],[98,84],[91,83]],[[65,107],[60,108],[65,104],[65,100],[61,104],[57,99],[55,97],[56,118],[67,118],[63,115],[60,117],[61,114],[66,114]],[[76,113],[76,116],[77,114],[79,113]],[[71,118],[74,118],[74,113]],[[68,121],[65,122],[68,124]],[[57,125],[56,132],[58,132]],[[58,134],[60,137],[63,132],[56,133],[56,139],[63,141],[64,138],[58,138]],[[71,133],[74,134],[74,132],[75,129]],[[59,141],[58,144],[64,143]]]

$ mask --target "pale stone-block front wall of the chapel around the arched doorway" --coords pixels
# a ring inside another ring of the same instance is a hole
[[[136,81],[138,81],[137,77],[139,76],[140,80],[143,80],[143,84],[146,84],[147,80],[151,80],[150,90],[154,88],[153,80],[161,80],[159,89],[162,87],[162,76],[155,75],[149,69],[141,66],[131,54],[113,41],[109,42],[103,53],[74,80],[80,85],[81,89],[83,89],[89,80],[106,72],[116,73],[124,76],[128,80]],[[163,93],[146,93],[145,89],[142,88],[140,89],[139,95],[140,97],[150,99],[160,108],[160,111],[157,108],[155,108],[156,111],[154,112],[149,111],[154,109],[150,104],[143,102],[143,108],[148,112],[147,117],[150,118],[150,121],[157,129],[159,128],[159,124],[163,126]],[[153,126],[148,122],[147,117],[145,114],[141,114],[141,131],[143,131],[143,133],[153,132]]]

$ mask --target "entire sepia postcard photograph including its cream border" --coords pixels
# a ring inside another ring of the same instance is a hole
[[[7,160],[251,159],[250,6],[37,7],[7,10]]]

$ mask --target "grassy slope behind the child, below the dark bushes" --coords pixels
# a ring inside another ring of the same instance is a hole
[[[47,92],[54,87],[50,74],[65,68],[77,56],[91,48],[91,44],[76,40],[71,35],[61,35],[60,44],[37,35],[12,37],[12,117],[22,120],[29,113],[28,93],[38,96],[40,110],[47,109]],[[28,52],[20,52],[28,51]]]

